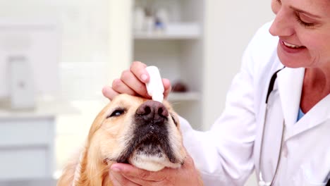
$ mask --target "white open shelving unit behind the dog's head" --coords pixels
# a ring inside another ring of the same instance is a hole
[[[136,22],[140,21],[140,18],[137,18],[140,16],[137,9],[147,10],[144,11],[145,25],[142,25],[142,28],[136,26]],[[160,27],[157,25],[156,16],[159,15],[159,10],[162,11],[161,16],[166,17],[166,21],[161,23]],[[193,128],[203,130],[201,123],[204,1],[135,0],[132,12],[132,61],[157,66],[161,76],[171,80],[172,85],[182,82],[187,91],[173,92],[169,100],[173,103],[174,109],[186,118]],[[151,20],[154,20],[152,28],[150,23],[147,23],[150,21],[150,15]]]

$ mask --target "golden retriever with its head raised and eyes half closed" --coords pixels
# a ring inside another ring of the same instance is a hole
[[[159,171],[179,168],[185,156],[178,116],[167,101],[119,94],[95,118],[84,149],[57,185],[109,186],[114,162]]]

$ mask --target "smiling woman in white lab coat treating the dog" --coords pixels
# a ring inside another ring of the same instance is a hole
[[[115,185],[326,185],[330,173],[330,0],[272,0],[276,18],[243,55],[224,113],[211,130],[181,120],[188,157],[157,173],[116,163]],[[103,93],[148,97],[145,64],[135,62]],[[169,80],[163,81],[169,94]],[[221,86],[221,85],[219,85]]]

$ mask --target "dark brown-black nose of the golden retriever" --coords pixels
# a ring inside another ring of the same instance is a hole
[[[166,107],[164,104],[161,104],[161,102],[148,100],[136,110],[136,115],[143,120],[164,122],[169,116],[169,111],[167,111]]]

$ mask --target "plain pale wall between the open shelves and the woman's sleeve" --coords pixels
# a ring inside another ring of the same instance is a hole
[[[224,109],[226,92],[240,58],[258,27],[274,18],[271,0],[205,1],[204,125]],[[216,104],[214,104],[216,103]]]

